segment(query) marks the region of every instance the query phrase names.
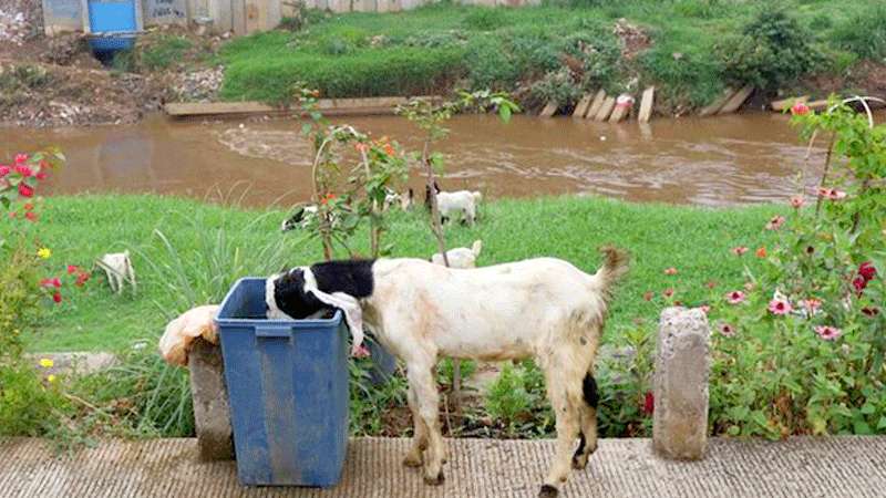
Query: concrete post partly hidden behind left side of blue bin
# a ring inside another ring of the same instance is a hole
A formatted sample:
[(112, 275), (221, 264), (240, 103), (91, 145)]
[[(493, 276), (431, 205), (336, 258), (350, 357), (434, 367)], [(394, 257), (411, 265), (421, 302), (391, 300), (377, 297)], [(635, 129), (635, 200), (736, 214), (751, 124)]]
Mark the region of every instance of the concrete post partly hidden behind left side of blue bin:
[(222, 349), (196, 339), (188, 353), (188, 367), (199, 457), (207, 461), (234, 459), (234, 432)]

